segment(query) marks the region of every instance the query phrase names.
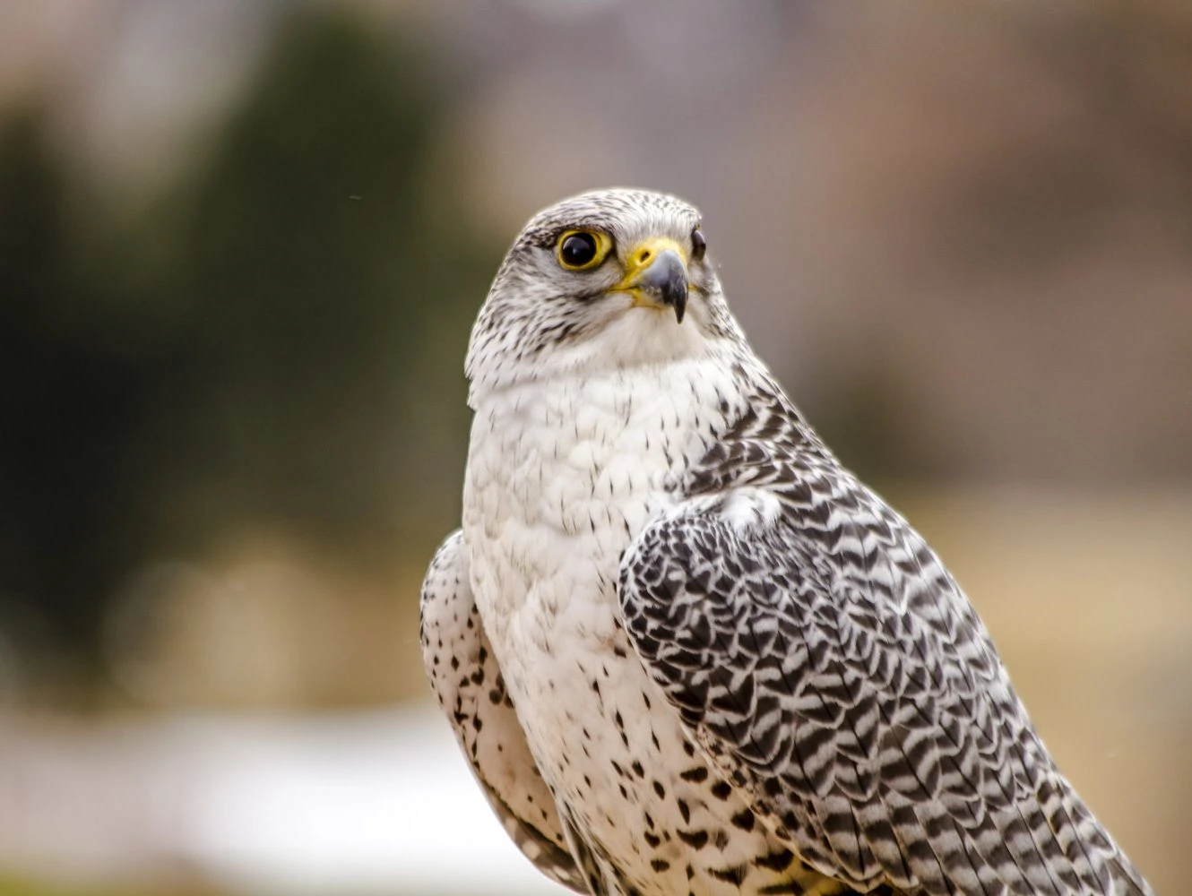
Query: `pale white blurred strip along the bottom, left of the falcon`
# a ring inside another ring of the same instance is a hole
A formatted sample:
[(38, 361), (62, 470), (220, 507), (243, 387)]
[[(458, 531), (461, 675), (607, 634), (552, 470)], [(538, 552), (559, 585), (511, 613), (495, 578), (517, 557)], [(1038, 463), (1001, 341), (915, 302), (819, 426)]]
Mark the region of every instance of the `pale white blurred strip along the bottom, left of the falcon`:
[(0, 735), (0, 870), (252, 894), (565, 892), (501, 829), (436, 710)]

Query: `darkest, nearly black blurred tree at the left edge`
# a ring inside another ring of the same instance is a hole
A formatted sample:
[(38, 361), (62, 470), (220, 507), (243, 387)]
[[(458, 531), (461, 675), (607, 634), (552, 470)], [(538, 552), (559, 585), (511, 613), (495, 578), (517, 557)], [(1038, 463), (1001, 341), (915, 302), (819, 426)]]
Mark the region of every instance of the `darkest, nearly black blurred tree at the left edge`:
[(0, 627), (93, 658), (98, 590), (131, 560), (124, 449), (151, 377), (95, 338), (80, 207), (42, 112), (13, 113), (0, 127)]

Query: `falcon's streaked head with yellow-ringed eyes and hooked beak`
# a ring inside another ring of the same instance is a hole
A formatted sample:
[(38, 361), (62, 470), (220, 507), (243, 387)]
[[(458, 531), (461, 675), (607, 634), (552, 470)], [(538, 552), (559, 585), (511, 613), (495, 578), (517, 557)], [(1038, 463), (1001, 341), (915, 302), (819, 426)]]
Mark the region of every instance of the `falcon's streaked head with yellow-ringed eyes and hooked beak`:
[(700, 213), (644, 189), (544, 209), (514, 241), (472, 329), (472, 394), (516, 382), (699, 357), (740, 331)]

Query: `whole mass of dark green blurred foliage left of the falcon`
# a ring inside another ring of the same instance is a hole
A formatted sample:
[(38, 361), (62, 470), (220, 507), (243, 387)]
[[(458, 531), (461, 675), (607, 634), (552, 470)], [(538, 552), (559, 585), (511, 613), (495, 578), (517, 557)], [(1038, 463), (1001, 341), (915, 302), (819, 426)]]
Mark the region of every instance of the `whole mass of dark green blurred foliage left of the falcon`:
[(89, 674), (134, 570), (237, 528), (424, 560), (501, 249), (433, 166), (446, 74), (297, 12), (201, 162), (118, 228), (41, 110), (0, 125), (0, 633)]

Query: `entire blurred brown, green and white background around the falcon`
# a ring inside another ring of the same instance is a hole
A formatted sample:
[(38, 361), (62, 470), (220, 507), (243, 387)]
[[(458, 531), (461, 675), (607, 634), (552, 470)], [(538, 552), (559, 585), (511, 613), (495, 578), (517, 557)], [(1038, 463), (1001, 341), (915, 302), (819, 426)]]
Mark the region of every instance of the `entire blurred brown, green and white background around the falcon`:
[(1159, 891), (1192, 834), (1192, 7), (0, 0), (0, 894), (550, 894), (429, 705), (524, 219), (704, 212)]

